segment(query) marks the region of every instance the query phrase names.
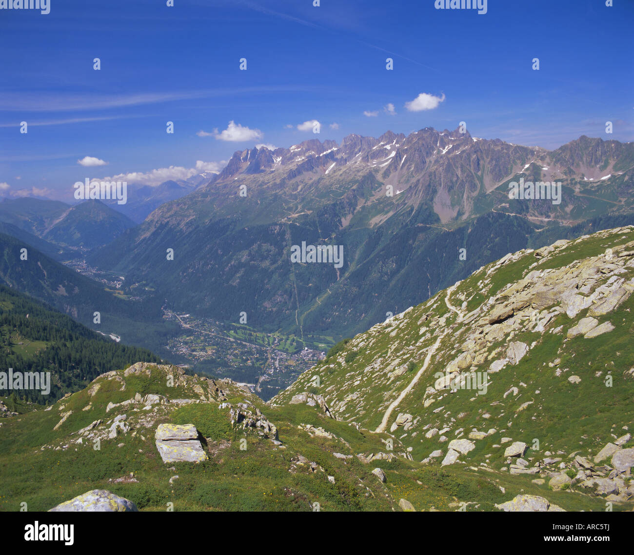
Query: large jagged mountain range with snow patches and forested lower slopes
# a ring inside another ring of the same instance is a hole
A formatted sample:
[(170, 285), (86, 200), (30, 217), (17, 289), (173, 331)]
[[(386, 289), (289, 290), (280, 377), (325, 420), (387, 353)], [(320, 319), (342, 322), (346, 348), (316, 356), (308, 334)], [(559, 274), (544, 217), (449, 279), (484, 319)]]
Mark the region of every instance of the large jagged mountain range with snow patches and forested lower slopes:
[[(509, 199), (520, 180), (560, 182), (560, 202)], [(630, 143), (582, 136), (548, 151), (458, 130), (353, 134), (236, 152), (216, 180), (90, 260), (176, 310), (337, 336), (507, 252), (633, 223), (633, 193)], [(342, 267), (292, 263), (302, 242), (344, 247)]]

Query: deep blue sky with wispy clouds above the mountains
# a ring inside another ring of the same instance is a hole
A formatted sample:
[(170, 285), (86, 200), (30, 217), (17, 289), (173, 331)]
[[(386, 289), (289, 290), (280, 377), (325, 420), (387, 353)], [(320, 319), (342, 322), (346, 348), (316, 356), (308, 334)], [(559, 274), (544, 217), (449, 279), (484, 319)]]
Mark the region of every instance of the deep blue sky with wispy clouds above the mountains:
[[(545, 148), (581, 134), (633, 140), (634, 1), (488, 0), (484, 15), (436, 10), (434, 0), (320, 4), (50, 0), (48, 15), (0, 10), (0, 197), (71, 201), (86, 178), (157, 185), (257, 144), (460, 121), (473, 136)], [(320, 134), (298, 129), (313, 120)], [(91, 159), (107, 165), (79, 164), (101, 163)]]

